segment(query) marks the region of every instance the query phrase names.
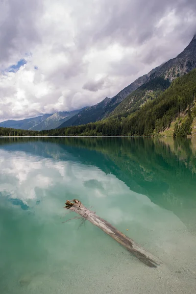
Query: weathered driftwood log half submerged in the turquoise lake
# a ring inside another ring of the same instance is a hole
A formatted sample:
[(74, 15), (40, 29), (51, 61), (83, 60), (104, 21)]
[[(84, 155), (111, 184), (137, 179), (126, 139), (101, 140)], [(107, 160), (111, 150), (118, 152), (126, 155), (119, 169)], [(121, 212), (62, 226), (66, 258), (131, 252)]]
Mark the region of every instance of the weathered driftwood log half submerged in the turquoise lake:
[[(73, 201), (73, 202), (71, 202)], [(95, 212), (87, 209), (79, 200), (67, 200), (65, 203), (65, 208), (74, 211), (79, 214), (83, 219), (92, 222), (97, 225), (98, 228), (103, 230), (106, 234), (116, 240), (118, 243), (123, 245), (128, 251), (133, 253), (137, 258), (139, 258), (143, 263), (145, 263), (148, 267), (156, 268), (161, 264), (160, 260), (152, 255), (145, 248), (134, 242), (129, 237), (125, 236), (119, 230), (117, 230), (114, 226), (112, 226), (109, 222), (99, 218)]]

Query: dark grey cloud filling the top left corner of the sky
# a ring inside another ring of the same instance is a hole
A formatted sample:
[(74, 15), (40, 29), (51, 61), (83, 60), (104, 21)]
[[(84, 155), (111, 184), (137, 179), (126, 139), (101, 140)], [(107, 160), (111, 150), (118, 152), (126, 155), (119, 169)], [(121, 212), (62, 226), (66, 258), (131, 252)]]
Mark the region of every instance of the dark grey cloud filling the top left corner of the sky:
[[(32, 43), (39, 40), (36, 19), (42, 13), (39, 0), (0, 1), (0, 68), (15, 63), (29, 53)], [(28, 51), (29, 50), (29, 51)]]

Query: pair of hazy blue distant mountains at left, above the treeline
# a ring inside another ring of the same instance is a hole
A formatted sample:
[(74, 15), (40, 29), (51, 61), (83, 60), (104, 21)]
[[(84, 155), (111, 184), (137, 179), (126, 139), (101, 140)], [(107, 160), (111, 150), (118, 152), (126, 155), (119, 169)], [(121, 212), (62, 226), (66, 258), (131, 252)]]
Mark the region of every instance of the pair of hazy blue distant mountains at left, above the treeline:
[(62, 123), (71, 119), (74, 115), (76, 115), (79, 110), (74, 111), (59, 111), (53, 114), (45, 114), (43, 116), (38, 116), (35, 118), (20, 120), (20, 121), (4, 121), (0, 123), (0, 127), (9, 127), (15, 129), (24, 129), (24, 130), (49, 130), (57, 128)]

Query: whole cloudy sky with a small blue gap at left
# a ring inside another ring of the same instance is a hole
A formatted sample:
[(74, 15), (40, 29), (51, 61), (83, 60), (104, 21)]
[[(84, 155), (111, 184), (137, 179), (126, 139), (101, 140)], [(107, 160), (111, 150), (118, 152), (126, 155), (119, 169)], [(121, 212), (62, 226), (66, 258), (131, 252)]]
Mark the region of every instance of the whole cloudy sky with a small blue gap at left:
[(196, 0), (0, 0), (0, 121), (113, 97), (196, 33)]

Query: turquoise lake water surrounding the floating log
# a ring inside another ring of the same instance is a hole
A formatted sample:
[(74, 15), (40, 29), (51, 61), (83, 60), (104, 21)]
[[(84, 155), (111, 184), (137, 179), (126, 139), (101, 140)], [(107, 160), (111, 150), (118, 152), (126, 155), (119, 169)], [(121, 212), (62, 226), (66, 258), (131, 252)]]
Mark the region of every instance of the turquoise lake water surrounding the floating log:
[[(73, 198), (163, 264), (65, 222)], [(195, 294), (196, 140), (0, 138), (0, 294), (27, 293)]]

